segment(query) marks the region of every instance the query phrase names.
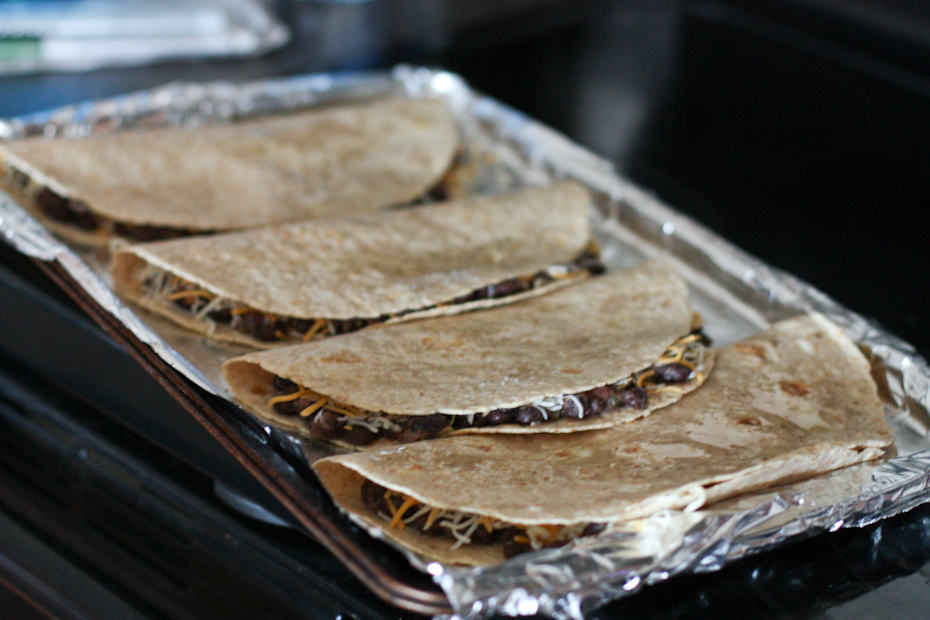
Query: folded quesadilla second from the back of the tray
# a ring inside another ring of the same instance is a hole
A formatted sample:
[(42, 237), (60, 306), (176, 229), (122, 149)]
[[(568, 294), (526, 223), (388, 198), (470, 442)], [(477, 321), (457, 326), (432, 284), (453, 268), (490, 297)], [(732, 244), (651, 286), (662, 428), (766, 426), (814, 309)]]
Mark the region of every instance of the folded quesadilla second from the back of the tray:
[(465, 312), (602, 271), (572, 182), (428, 207), (140, 244), (116, 290), (211, 336), (294, 344)]

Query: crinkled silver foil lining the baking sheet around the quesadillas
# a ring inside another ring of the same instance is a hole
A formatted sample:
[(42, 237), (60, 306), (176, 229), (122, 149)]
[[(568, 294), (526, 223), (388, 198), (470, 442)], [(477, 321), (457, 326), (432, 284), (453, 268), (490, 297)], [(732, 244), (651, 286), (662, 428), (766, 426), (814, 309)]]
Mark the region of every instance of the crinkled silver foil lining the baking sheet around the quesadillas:
[[(608, 268), (652, 256), (688, 282), (706, 332), (725, 346), (771, 322), (809, 311), (827, 315), (870, 357), (895, 433), (897, 456), (703, 510), (664, 511), (607, 533), (482, 568), (429, 562), (405, 552), (448, 596), (456, 617), (586, 611), (682, 572), (708, 571), (790, 538), (857, 527), (930, 501), (930, 368), (905, 342), (813, 287), (741, 252), (619, 177), (611, 165), (554, 131), (472, 91), (457, 76), (424, 68), (313, 75), (248, 84), (162, 88), (0, 121), (0, 139), (72, 137), (130, 127), (196, 127), (257, 114), (387, 94), (446, 99), (465, 143), (460, 189), (484, 193), (572, 177), (594, 197), (595, 230)], [(173, 368), (229, 398), (220, 364), (247, 349), (210, 343), (112, 293), (106, 255), (53, 238), (0, 192), (0, 231), (19, 251), (57, 261), (104, 309)], [(273, 432), (268, 429), (269, 432)], [(298, 442), (314, 460), (326, 446)], [(379, 532), (372, 530), (374, 536)]]

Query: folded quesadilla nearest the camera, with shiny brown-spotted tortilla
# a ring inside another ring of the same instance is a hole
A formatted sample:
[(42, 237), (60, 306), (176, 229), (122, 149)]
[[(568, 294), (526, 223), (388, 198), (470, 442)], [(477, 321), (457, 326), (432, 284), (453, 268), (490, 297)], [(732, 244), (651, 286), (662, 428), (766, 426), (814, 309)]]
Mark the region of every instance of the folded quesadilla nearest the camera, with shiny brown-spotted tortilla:
[(867, 361), (813, 315), (723, 349), (701, 389), (630, 424), (447, 437), (314, 468), (366, 525), (429, 558), (482, 565), (875, 459), (891, 441)]

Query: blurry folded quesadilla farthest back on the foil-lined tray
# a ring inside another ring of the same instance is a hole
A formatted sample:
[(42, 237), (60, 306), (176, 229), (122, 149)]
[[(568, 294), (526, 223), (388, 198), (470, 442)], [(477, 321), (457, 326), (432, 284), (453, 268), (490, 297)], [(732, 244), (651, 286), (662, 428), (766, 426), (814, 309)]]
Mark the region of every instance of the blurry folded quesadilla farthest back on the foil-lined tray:
[(449, 168), (438, 100), (387, 99), (197, 128), (0, 143), (0, 186), (81, 243), (153, 240), (406, 203)]

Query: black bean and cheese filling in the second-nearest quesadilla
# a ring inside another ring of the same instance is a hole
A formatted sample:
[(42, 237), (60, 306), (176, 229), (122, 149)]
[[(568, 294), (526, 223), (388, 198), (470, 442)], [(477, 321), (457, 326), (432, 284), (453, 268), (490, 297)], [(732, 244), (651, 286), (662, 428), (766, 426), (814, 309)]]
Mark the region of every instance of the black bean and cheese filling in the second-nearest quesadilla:
[(529, 405), (494, 409), (485, 413), (450, 415), (391, 415), (366, 411), (332, 402), (289, 379), (273, 375), (274, 396), (268, 406), (276, 413), (300, 417), (312, 437), (338, 439), (352, 445), (367, 445), (378, 438), (404, 443), (432, 439), (453, 430), (470, 427), (520, 424), (530, 426), (562, 418), (582, 420), (612, 409), (645, 409), (650, 392), (680, 390), (676, 384), (703, 380), (704, 348), (710, 340), (701, 328), (680, 338), (656, 364), (634, 375), (584, 392), (547, 397)]

